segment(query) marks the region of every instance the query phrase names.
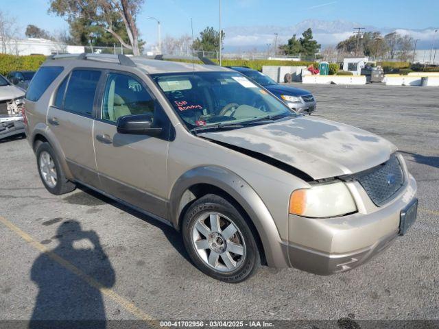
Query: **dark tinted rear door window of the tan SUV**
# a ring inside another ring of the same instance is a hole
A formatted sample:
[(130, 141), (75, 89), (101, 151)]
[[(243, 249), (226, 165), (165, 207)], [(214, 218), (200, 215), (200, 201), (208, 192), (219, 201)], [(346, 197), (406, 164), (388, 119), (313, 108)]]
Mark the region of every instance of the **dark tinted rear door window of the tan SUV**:
[(64, 97), (64, 110), (91, 116), (100, 75), (99, 71), (72, 71), (66, 96)]

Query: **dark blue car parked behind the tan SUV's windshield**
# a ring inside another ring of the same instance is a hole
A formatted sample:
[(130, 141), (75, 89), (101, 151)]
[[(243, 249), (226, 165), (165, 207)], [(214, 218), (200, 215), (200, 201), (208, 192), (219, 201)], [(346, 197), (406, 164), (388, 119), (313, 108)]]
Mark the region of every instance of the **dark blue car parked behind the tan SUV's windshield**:
[(287, 106), (298, 113), (312, 113), (316, 111), (316, 99), (311, 92), (305, 89), (278, 84), (267, 75), (245, 66), (228, 66), (250, 77), (253, 81), (269, 90), (273, 95), (282, 99)]

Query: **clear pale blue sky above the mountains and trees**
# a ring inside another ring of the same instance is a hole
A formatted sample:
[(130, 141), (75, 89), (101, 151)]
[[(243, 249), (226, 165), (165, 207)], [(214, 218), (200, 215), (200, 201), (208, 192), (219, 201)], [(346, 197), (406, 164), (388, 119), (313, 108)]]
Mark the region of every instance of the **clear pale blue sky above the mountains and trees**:
[[(191, 34), (206, 26), (218, 28), (219, 0), (146, 0), (137, 19), (141, 38), (157, 39), (154, 16), (162, 23), (162, 37)], [(67, 29), (64, 19), (48, 14), (49, 0), (0, 0), (0, 10), (16, 18), (21, 34), (34, 24), (49, 32)], [(222, 27), (276, 25), (287, 27), (306, 19), (344, 20), (375, 27), (426, 29), (439, 27), (439, 0), (222, 0)], [(227, 34), (226, 34), (227, 39)], [(227, 43), (227, 40), (224, 41)]]

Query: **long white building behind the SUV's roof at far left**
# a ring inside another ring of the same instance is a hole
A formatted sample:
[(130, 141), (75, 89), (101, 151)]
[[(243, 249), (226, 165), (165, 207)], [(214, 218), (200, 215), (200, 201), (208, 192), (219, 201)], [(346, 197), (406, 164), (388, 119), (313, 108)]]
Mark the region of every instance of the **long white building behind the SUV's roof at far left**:
[(24, 40), (0, 39), (0, 53), (11, 55), (45, 55), (54, 53), (84, 53), (84, 46), (70, 46), (62, 42), (47, 39), (27, 38)]

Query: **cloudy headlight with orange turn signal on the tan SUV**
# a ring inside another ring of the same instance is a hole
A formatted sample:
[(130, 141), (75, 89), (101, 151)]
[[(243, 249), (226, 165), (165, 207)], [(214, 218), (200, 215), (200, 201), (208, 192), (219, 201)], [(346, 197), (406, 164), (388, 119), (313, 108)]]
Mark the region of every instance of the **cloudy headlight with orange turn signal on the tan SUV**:
[(355, 211), (357, 206), (344, 182), (300, 188), (289, 197), (289, 213), (292, 215), (322, 218)]

